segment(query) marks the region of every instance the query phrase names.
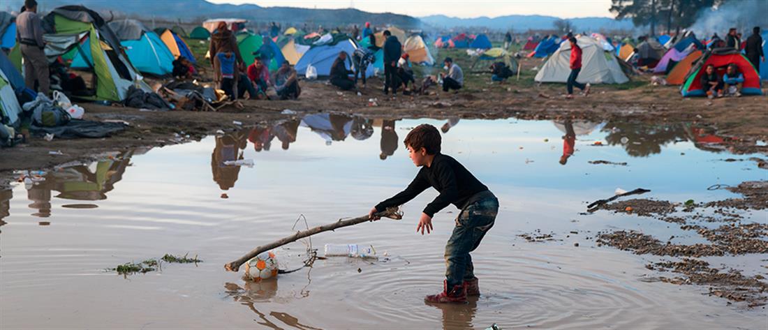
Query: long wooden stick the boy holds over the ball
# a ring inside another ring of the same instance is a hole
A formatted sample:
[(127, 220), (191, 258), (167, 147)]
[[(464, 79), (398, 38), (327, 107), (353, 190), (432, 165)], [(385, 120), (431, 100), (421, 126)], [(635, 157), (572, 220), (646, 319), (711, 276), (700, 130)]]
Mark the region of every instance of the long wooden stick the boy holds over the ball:
[[(394, 207), (391, 207), (386, 211), (376, 213), (376, 216), (387, 217), (390, 219), (402, 219), (402, 213), (400, 213), (397, 210), (397, 208), (394, 208)], [(240, 266), (243, 265), (243, 263), (247, 262), (248, 260), (252, 259), (255, 256), (258, 256), (262, 252), (269, 251), (270, 249), (274, 249), (276, 247), (284, 246), (288, 243), (296, 242), (299, 239), (303, 239), (304, 237), (307, 237), (307, 236), (313, 236), (317, 233), (323, 233), (328, 230), (336, 230), (346, 226), (353, 226), (358, 223), (365, 223), (366, 221), (369, 221), (368, 215), (358, 216), (352, 219), (339, 219), (335, 223), (329, 223), (323, 226), (316, 226), (310, 229), (300, 230), (291, 236), (287, 236), (283, 239), (276, 240), (273, 243), (269, 243), (263, 246), (257, 246), (256, 249), (252, 249), (250, 252), (246, 253), (245, 256), (241, 256), (239, 259), (224, 265), (224, 269), (227, 269), (228, 272), (237, 272), (237, 270), (240, 269)]]

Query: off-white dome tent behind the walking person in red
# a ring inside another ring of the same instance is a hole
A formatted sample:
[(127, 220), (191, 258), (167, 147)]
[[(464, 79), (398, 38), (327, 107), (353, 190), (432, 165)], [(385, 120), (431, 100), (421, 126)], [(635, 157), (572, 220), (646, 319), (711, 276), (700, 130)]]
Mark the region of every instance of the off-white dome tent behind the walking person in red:
[[(624, 84), (629, 81), (612, 51), (604, 51), (593, 38), (577, 38), (581, 47), (581, 72), (576, 81), (591, 84)], [(563, 42), (536, 74), (538, 82), (566, 82), (571, 74), (571, 43)]]

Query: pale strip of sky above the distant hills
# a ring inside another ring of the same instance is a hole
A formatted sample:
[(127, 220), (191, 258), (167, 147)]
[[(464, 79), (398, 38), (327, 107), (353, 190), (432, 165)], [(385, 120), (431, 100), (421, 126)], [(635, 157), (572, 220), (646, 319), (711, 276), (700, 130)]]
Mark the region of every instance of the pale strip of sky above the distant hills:
[(349, 8), (364, 12), (393, 12), (415, 17), (447, 15), (460, 18), (504, 15), (548, 15), (560, 18), (613, 17), (611, 0), (207, 0), (214, 3), (256, 4), (263, 7)]

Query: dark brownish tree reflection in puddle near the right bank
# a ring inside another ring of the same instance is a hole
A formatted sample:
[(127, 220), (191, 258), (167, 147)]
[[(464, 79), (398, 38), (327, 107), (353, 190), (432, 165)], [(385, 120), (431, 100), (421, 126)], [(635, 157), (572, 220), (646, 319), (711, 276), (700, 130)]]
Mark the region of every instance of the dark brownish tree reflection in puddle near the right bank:
[(631, 124), (609, 121), (604, 132), (612, 146), (621, 144), (631, 157), (648, 157), (660, 153), (661, 146), (677, 140), (687, 140), (683, 124)]

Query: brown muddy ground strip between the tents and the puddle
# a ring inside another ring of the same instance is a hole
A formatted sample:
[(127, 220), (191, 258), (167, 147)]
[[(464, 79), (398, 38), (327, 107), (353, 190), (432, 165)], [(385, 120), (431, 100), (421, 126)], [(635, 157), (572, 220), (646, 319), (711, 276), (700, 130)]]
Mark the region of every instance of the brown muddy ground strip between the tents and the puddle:
[[(740, 97), (707, 100), (683, 98), (677, 87), (648, 84), (650, 76), (634, 76), (621, 86), (597, 85), (588, 97), (564, 98), (564, 84), (533, 83), (534, 67), (539, 59), (521, 59), (521, 77), (506, 84), (490, 84), (489, 74), (465, 68), (465, 88), (458, 93), (443, 93), (431, 87), (429, 95), (386, 97), (379, 79), (369, 81), (362, 95), (339, 92), (325, 81), (302, 81), (303, 94), (298, 101), (243, 101), (245, 108), (224, 108), (219, 112), (167, 111), (146, 112), (120, 106), (81, 103), (85, 119), (124, 120), (130, 124), (124, 132), (104, 139), (46, 141), (30, 137), (26, 144), (0, 150), (2, 184), (12, 180), (12, 170), (37, 170), (73, 160), (87, 160), (105, 151), (138, 146), (177, 144), (186, 135), (200, 139), (217, 130), (283, 120), (319, 111), (336, 111), (380, 118), (480, 118), (518, 117), (551, 120), (563, 117), (592, 121), (620, 120), (651, 124), (690, 122), (717, 130), (726, 137), (727, 148), (734, 153), (760, 152), (756, 140), (768, 140), (768, 98)], [(466, 64), (468, 66), (468, 64)], [(436, 73), (436, 72), (432, 72)], [(768, 89), (764, 88), (768, 94)], [(377, 106), (369, 106), (376, 98)], [(281, 114), (290, 109), (296, 114)], [(181, 134), (184, 132), (184, 134)], [(181, 139), (175, 134), (180, 134)], [(49, 155), (61, 150), (63, 155)]]

